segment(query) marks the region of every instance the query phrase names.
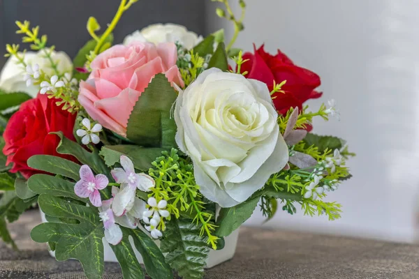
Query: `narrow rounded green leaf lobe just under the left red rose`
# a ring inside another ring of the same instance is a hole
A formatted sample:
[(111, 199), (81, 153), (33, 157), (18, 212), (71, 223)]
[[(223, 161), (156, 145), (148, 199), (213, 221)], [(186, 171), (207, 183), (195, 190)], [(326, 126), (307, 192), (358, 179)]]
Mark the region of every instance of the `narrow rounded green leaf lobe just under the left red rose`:
[(29, 167), (50, 174), (59, 174), (75, 181), (80, 180), (80, 165), (63, 158), (50, 155), (35, 155), (28, 160)]

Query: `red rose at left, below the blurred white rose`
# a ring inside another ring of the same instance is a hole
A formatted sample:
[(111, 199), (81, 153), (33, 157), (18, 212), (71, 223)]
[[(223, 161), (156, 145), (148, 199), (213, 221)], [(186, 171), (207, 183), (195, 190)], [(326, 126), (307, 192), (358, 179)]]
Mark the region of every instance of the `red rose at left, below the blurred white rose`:
[(55, 102), (57, 99), (38, 94), (36, 98), (24, 102), (19, 111), (10, 117), (3, 133), (6, 165), (13, 163), (10, 172), (20, 172), (25, 178), (39, 173), (27, 165), (31, 156), (39, 154), (74, 160), (72, 156), (57, 153), (59, 137), (49, 133), (62, 131), (70, 140), (75, 140), (73, 127), (76, 115), (61, 110)]

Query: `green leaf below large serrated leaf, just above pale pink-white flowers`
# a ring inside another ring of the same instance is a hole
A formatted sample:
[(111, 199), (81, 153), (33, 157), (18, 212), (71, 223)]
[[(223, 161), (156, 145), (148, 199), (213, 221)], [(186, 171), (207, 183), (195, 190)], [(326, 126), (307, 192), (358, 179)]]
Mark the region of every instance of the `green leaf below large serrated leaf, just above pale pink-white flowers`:
[(135, 169), (143, 172), (153, 167), (152, 162), (161, 156), (161, 152), (166, 149), (161, 148), (143, 148), (137, 145), (109, 145), (103, 146), (100, 154), (105, 158), (105, 163), (109, 167), (119, 163), (122, 155), (128, 156), (133, 161)]

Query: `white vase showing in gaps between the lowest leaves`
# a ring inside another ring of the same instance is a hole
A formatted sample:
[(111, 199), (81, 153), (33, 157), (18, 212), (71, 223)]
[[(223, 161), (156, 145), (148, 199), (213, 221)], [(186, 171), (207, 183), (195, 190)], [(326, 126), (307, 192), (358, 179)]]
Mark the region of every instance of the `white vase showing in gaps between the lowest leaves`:
[[(48, 221), (45, 219), (45, 214), (41, 211), (41, 218), (43, 223), (47, 223)], [(236, 246), (237, 246), (237, 239), (239, 236), (239, 229), (236, 229), (235, 232), (224, 238), (226, 241), (226, 246), (224, 246), (221, 250), (210, 250), (210, 255), (207, 258), (207, 266), (205, 266), (206, 269), (211, 269), (212, 267), (221, 264), (223, 262), (228, 261), (229, 259), (232, 259)], [(105, 238), (102, 239), (103, 241), (103, 247), (105, 248), (105, 262), (118, 262), (117, 257), (115, 256), (115, 253), (112, 251), (112, 248), (110, 248), (108, 242), (105, 240)], [(135, 252), (135, 255), (137, 256), (138, 262), (140, 264), (144, 264), (142, 261), (142, 257), (140, 255), (140, 252), (138, 252), (137, 249), (135, 249), (135, 246), (133, 245), (133, 241), (130, 238), (131, 246)], [(160, 247), (160, 241), (156, 241), (157, 246)], [(50, 251), (50, 255), (52, 257), (55, 257), (55, 253)]]

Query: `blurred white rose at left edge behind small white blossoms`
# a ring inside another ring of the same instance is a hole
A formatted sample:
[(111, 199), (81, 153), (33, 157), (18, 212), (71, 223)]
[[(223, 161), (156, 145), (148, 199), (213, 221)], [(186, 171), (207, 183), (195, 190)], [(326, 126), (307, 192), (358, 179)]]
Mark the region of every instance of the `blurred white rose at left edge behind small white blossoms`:
[[(20, 54), (22, 55), (22, 54)], [(52, 52), (52, 60), (57, 63), (57, 68), (60, 74), (71, 73), (73, 71), (73, 63), (70, 57), (64, 52)], [(34, 66), (39, 65), (39, 68), (43, 70), (47, 75), (54, 75), (54, 70), (51, 68), (50, 61), (45, 58), (43, 51), (40, 52), (27, 52), (24, 54), (24, 62), (28, 65)], [(32, 97), (35, 97), (39, 92), (39, 86), (27, 87), (23, 77), (26, 73), (25, 68), (17, 63), (17, 59), (11, 56), (0, 73), (0, 89), (9, 92), (24, 91), (29, 93)]]

